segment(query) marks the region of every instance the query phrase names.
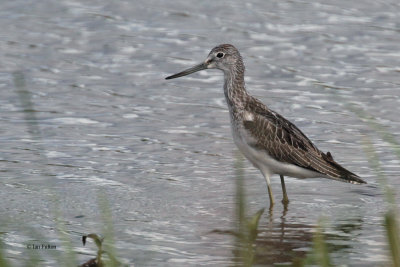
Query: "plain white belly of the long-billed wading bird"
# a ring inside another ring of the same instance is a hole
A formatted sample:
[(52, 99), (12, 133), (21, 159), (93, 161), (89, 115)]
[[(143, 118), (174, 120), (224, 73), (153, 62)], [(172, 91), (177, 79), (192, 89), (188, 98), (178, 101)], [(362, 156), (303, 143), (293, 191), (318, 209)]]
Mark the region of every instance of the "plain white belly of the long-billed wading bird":
[(294, 164), (277, 161), (266, 150), (256, 149), (248, 145), (249, 143), (255, 143), (255, 140), (241, 127), (232, 127), (232, 135), (239, 150), (263, 173), (267, 172), (269, 175), (281, 174), (296, 178), (325, 177), (321, 173), (307, 170)]

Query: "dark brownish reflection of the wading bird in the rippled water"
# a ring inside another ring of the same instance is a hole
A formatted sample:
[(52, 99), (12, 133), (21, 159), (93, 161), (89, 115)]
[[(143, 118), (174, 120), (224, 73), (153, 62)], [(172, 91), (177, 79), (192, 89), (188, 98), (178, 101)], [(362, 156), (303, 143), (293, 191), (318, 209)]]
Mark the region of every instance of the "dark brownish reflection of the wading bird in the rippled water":
[[(255, 265), (269, 266), (277, 263), (292, 265), (293, 261), (305, 258), (312, 250), (313, 233), (317, 222), (315, 224), (299, 223), (296, 222), (296, 218), (288, 214), (290, 214), (290, 209), (286, 206), (279, 212), (270, 209), (262, 216), (257, 239), (253, 244)], [(344, 257), (351, 251), (354, 239), (362, 230), (362, 224), (361, 218), (353, 218), (337, 220), (335, 224), (327, 226), (329, 233), (324, 233), (324, 239), (329, 253), (332, 255), (340, 251), (341, 257)], [(238, 236), (237, 232), (231, 230), (212, 232)], [(241, 261), (240, 249), (237, 246), (233, 249), (234, 262)]]

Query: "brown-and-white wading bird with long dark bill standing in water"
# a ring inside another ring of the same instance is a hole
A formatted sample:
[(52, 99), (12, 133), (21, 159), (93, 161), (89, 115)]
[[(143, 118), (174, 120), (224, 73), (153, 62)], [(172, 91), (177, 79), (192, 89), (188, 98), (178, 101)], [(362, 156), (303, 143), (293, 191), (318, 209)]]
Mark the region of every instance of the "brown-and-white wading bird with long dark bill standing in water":
[(273, 174), (280, 175), (284, 205), (289, 202), (284, 176), (324, 177), (352, 184), (366, 183), (334, 161), (330, 152), (325, 154), (319, 150), (293, 123), (247, 93), (243, 60), (233, 45), (214, 47), (204, 62), (165, 79), (205, 69), (224, 72), (224, 94), (233, 140), (267, 181), (271, 207), (274, 204), (270, 181)]

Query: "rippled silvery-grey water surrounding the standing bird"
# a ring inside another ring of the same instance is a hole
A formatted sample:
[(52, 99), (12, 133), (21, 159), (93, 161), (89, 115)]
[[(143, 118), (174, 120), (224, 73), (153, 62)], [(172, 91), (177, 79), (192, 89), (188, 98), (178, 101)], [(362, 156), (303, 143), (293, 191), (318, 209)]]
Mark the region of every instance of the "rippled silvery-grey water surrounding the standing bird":
[[(368, 185), (286, 179), (291, 200), (260, 221), (256, 264), (290, 263), (325, 218), (337, 265), (387, 263), (384, 195), (363, 148), (371, 140), (398, 193), (392, 146), (348, 105), (400, 142), (400, 4), (387, 1), (2, 1), (0, 223), (15, 263), (55, 266), (112, 210), (119, 258), (135, 266), (235, 262), (237, 148), (222, 73), (165, 81), (232, 43), (249, 92), (302, 129)], [(268, 207), (244, 161), (249, 214)], [(397, 198), (398, 199), (398, 198)], [(57, 250), (29, 251), (50, 243)]]

